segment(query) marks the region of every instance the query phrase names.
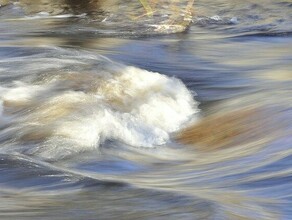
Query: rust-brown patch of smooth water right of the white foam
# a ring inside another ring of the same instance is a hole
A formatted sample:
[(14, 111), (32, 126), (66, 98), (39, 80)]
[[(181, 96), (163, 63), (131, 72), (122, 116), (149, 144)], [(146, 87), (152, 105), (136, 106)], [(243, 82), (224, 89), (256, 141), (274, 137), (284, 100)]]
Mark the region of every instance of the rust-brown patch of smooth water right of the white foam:
[(226, 148), (241, 140), (264, 137), (265, 121), (260, 109), (244, 109), (203, 118), (199, 123), (180, 131), (175, 139), (198, 150)]

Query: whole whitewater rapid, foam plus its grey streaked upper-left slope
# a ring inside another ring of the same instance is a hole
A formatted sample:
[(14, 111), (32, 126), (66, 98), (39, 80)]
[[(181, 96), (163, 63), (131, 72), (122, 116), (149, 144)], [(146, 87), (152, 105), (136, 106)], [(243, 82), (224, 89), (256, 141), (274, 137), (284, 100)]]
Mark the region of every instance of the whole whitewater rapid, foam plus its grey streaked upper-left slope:
[(2, 151), (59, 158), (105, 141), (155, 147), (198, 112), (179, 79), (89, 52), (40, 49), (1, 66)]

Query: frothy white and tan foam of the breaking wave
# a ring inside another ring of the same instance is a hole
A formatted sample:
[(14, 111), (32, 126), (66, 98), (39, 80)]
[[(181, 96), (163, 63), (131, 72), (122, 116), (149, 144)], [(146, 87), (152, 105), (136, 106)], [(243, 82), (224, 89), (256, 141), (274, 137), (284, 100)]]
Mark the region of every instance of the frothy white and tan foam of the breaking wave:
[(25, 102), (21, 114), (11, 111), (12, 133), (19, 141), (37, 141), (35, 151), (45, 157), (56, 157), (53, 152), (60, 155), (62, 149), (72, 153), (98, 148), (105, 140), (153, 147), (167, 143), (169, 134), (198, 112), (180, 80), (105, 62), (108, 66), (92, 72), (60, 72), (2, 88), (0, 97), (4, 105), (12, 103), (10, 110), (23, 108)]

